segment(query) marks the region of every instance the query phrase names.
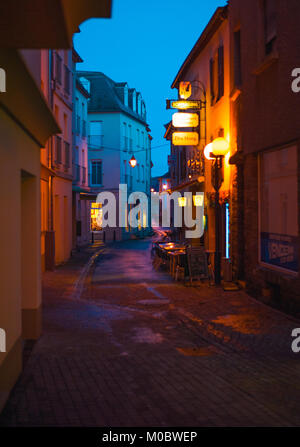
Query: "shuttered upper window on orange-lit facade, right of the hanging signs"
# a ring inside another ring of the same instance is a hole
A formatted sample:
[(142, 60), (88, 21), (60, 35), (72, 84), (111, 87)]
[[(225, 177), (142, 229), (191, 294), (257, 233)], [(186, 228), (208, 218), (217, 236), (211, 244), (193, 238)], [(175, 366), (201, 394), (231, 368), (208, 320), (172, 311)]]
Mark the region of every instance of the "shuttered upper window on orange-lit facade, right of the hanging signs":
[(221, 45), (210, 59), (210, 96), (214, 105), (224, 95), (224, 47)]

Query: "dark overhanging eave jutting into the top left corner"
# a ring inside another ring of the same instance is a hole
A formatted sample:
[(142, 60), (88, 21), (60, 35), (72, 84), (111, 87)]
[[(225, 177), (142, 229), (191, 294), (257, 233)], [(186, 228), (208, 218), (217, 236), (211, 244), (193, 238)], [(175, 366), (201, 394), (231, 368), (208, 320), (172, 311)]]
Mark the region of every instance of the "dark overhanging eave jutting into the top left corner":
[(111, 17), (111, 6), (112, 0), (2, 0), (0, 47), (72, 48), (79, 25)]

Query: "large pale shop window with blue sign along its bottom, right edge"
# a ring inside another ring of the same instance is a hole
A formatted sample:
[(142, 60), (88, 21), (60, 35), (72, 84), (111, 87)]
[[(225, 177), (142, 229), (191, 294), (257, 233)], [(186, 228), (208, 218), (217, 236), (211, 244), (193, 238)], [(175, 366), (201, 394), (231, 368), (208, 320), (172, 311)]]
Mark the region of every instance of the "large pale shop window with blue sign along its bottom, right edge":
[(299, 271), (297, 147), (260, 158), (260, 260)]

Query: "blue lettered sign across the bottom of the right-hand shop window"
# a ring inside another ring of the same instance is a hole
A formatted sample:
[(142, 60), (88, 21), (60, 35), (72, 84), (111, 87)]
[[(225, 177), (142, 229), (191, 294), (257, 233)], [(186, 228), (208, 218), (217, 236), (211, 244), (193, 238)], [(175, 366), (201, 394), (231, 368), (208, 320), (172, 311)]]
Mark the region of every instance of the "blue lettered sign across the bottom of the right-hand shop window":
[(283, 234), (260, 234), (261, 261), (292, 272), (299, 271), (299, 238)]

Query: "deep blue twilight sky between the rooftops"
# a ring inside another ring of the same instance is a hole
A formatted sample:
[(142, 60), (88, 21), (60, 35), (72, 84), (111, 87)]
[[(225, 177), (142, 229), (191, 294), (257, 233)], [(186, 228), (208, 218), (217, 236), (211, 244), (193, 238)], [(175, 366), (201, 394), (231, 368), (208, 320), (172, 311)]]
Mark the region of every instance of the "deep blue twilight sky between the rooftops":
[(88, 20), (75, 35), (75, 48), (84, 59), (78, 69), (102, 71), (141, 92), (153, 136), (152, 176), (168, 170), (163, 125), (171, 119), (166, 99), (176, 98), (170, 85), (215, 9), (226, 3), (113, 0), (111, 19)]

